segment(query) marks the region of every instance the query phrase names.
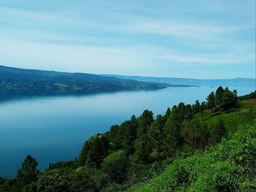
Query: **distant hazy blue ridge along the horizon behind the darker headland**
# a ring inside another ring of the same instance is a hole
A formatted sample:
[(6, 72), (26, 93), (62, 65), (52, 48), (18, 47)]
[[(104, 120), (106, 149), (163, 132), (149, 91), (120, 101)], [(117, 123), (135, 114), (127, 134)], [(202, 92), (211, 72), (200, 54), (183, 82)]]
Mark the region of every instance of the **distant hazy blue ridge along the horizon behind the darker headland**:
[(105, 77), (118, 77), (128, 80), (139, 80), (143, 82), (162, 82), (177, 85), (199, 85), (199, 86), (255, 86), (253, 78), (234, 78), (234, 79), (189, 79), (189, 78), (174, 78), (174, 77), (142, 77), (142, 76), (124, 76), (116, 74), (103, 74)]

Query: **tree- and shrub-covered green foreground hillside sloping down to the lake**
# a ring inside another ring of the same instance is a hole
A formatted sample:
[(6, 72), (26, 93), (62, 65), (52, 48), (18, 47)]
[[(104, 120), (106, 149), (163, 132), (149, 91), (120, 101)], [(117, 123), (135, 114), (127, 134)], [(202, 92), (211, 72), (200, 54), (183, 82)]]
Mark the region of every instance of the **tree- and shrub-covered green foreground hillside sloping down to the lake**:
[(0, 191), (256, 191), (253, 94), (219, 87), (156, 118), (145, 110), (91, 137), (74, 161), (39, 172), (28, 155)]

